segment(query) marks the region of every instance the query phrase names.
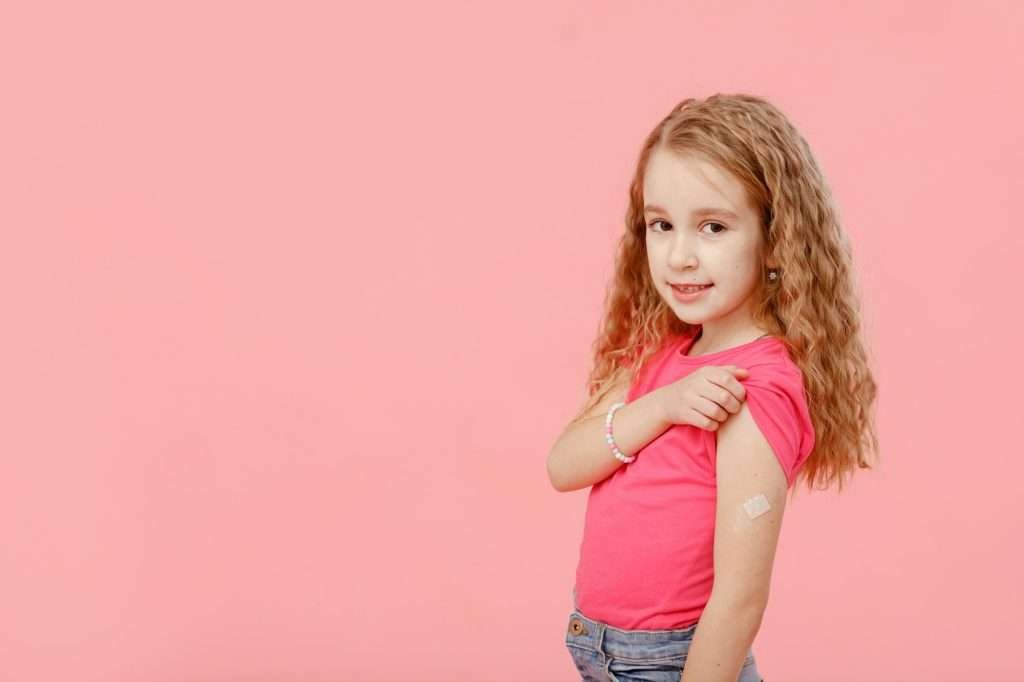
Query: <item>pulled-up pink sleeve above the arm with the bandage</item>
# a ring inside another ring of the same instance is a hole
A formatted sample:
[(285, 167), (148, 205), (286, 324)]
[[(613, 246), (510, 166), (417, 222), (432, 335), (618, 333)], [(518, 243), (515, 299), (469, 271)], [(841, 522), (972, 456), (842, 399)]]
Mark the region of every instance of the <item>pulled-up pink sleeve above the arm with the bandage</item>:
[(792, 486), (814, 447), (814, 426), (800, 369), (770, 363), (748, 370), (750, 376), (741, 380), (746, 406)]

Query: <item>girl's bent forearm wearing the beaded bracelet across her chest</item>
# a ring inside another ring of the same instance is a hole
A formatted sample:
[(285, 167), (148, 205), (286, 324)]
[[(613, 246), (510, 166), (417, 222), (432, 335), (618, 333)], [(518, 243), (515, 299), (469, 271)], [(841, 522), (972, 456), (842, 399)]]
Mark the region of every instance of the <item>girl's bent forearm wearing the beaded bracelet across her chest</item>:
[[(612, 433), (623, 454), (635, 455), (672, 426), (660, 406), (660, 395), (653, 390), (615, 412)], [(573, 424), (555, 441), (548, 455), (548, 476), (556, 491), (567, 493), (593, 485), (623, 466), (605, 440), (606, 414)]]

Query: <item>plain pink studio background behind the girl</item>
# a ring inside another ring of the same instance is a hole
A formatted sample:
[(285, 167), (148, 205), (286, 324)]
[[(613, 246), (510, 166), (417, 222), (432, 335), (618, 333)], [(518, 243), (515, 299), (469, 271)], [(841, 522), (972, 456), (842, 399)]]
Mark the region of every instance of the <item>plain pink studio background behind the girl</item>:
[(1019, 3), (18, 4), (0, 680), (577, 679), (545, 459), (639, 144), (716, 91), (818, 155), (881, 385), (762, 673), (1024, 678)]

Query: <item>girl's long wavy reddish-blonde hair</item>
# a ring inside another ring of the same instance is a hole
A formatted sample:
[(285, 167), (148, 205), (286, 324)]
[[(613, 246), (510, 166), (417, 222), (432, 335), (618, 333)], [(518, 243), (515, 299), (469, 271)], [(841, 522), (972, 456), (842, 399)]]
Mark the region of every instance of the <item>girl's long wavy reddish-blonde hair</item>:
[(632, 381), (670, 336), (696, 331), (662, 299), (648, 268), (643, 179), (658, 146), (731, 171), (759, 208), (763, 253), (774, 256), (780, 276), (769, 279), (762, 268), (754, 322), (782, 340), (804, 375), (815, 444), (800, 477), (809, 489), (838, 483), (842, 492), (845, 475), (871, 468), (867, 456), (879, 451), (871, 414), (878, 388), (861, 339), (852, 252), (807, 141), (778, 109), (758, 96), (684, 99), (644, 141), (593, 343), (588, 399), (573, 422), (612, 385)]

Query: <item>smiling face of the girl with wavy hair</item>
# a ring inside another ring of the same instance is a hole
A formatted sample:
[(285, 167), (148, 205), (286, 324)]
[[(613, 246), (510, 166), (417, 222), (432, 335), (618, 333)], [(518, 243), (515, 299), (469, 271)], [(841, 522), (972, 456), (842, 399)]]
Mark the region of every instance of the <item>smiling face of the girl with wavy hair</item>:
[[(662, 298), (705, 336), (754, 326), (763, 237), (756, 207), (731, 173), (696, 156), (655, 147), (643, 182), (647, 261)], [(710, 284), (680, 297), (674, 284)], [(709, 334), (711, 332), (711, 334)]]

